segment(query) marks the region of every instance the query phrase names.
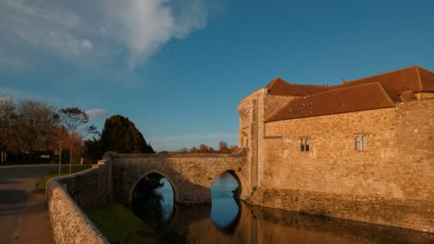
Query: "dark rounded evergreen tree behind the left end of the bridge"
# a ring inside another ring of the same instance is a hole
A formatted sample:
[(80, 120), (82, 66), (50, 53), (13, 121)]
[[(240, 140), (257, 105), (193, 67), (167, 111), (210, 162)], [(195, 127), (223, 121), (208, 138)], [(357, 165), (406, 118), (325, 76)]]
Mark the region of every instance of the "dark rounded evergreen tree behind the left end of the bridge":
[(134, 123), (121, 115), (106, 119), (101, 133), (101, 151), (155, 153)]

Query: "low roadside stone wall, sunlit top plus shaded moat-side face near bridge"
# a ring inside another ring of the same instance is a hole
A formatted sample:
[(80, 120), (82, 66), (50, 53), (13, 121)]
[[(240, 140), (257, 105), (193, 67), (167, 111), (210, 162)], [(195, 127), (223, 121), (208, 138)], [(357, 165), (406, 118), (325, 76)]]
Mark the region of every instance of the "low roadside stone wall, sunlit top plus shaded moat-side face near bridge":
[(94, 168), (51, 178), (46, 183), (46, 202), (56, 243), (109, 243), (81, 208), (111, 200), (111, 187), (109, 161), (99, 161)]

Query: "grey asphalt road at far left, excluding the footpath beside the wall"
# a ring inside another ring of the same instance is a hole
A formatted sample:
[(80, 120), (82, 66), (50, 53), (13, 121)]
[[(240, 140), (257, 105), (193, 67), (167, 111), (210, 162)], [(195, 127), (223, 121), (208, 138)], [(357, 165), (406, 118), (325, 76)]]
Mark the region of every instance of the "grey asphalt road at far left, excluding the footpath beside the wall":
[(39, 177), (55, 168), (56, 166), (0, 167), (0, 243), (13, 243), (18, 239), (31, 191)]

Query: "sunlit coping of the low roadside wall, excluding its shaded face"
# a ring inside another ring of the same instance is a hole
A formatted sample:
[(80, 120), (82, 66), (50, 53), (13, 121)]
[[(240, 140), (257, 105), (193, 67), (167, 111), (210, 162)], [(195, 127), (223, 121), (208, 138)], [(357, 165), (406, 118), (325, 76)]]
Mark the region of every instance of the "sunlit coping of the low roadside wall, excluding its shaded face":
[[(49, 208), (49, 217), (53, 228), (56, 243), (67, 241), (69, 243), (109, 243), (109, 240), (96, 228), (94, 223), (76, 204), (64, 187), (62, 180), (76, 178), (106, 164), (101, 162), (86, 171), (74, 173), (69, 176), (51, 178), (46, 183), (46, 203)], [(59, 213), (60, 212), (60, 213)], [(64, 212), (64, 214), (61, 214)]]

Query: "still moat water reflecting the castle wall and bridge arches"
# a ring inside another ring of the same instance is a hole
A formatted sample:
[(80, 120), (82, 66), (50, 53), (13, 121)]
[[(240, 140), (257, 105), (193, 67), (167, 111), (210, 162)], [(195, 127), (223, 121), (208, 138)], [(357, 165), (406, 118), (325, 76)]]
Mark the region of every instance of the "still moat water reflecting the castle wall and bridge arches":
[(170, 183), (161, 182), (158, 207), (133, 205), (160, 243), (434, 243), (427, 233), (248, 206), (233, 198), (238, 184), (228, 173), (214, 181), (211, 205), (173, 205)]

